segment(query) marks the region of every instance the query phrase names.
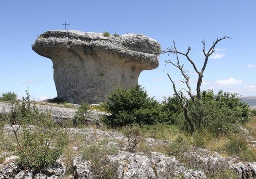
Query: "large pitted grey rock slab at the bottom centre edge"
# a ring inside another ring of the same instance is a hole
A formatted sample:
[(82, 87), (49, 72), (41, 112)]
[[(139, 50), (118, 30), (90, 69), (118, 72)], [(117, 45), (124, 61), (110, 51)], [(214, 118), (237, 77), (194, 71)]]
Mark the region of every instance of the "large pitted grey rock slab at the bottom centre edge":
[(120, 151), (110, 155), (111, 162), (117, 162), (118, 178), (122, 179), (205, 179), (204, 172), (185, 168), (175, 158), (162, 153), (152, 152), (148, 157), (144, 153)]

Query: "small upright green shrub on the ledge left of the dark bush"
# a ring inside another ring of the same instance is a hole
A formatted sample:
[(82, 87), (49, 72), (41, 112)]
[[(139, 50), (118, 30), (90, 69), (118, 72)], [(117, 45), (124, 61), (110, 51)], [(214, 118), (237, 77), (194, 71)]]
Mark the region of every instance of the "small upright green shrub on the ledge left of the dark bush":
[(75, 116), (73, 118), (73, 124), (75, 126), (84, 125), (86, 124), (86, 116), (85, 113), (89, 110), (89, 103), (82, 102), (81, 106), (78, 107), (77, 111), (75, 112)]

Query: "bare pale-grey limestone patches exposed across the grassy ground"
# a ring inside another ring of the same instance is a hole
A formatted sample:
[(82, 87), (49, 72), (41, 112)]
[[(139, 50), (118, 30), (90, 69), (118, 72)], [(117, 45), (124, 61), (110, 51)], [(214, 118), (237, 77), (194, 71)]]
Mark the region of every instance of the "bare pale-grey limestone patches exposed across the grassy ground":
[[(50, 107), (46, 105), (38, 106), (42, 110), (50, 110), (52, 118), (60, 120), (63, 118), (73, 118), (75, 108)], [(0, 103), (0, 113), (8, 112), (10, 105)], [(101, 113), (91, 111), (88, 115), (88, 121), (99, 118)], [(10, 125), (3, 127), (5, 133), (12, 133)], [(149, 151), (147, 153), (127, 151), (128, 138), (122, 133), (102, 131), (95, 128), (64, 128), (69, 137), (84, 136), (88, 143), (102, 143), (104, 147), (115, 147), (118, 152), (107, 156), (109, 164), (115, 164), (118, 179), (206, 179), (207, 176), (202, 171), (188, 169), (180, 163), (175, 157), (165, 156), (163, 153)], [(172, 141), (162, 141), (154, 138), (145, 138), (146, 146), (164, 146)], [(72, 168), (73, 174), (67, 176), (67, 166), (63, 163), (61, 157), (51, 168), (44, 168), (39, 173), (31, 171), (22, 171), (16, 167), (14, 160), (16, 156), (9, 153), (0, 153), (0, 179), (95, 179), (93, 164), (84, 159), (79, 151), (82, 146), (73, 147)], [(242, 163), (235, 158), (223, 157), (219, 153), (211, 153), (202, 148), (193, 148), (190, 152), (184, 153), (184, 156), (195, 160), (195, 164), (205, 165), (208, 168), (230, 168), (237, 174), (237, 178), (249, 179), (256, 178), (256, 162)], [(99, 169), (100, 170), (100, 169)], [(65, 177), (64, 177), (65, 176)]]

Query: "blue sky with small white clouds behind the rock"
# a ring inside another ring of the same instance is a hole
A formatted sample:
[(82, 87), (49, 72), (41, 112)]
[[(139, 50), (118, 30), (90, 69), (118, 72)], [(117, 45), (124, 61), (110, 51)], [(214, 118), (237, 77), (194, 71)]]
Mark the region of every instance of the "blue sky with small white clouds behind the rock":
[[(256, 96), (256, 1), (255, 0), (2, 0), (0, 2), (0, 94), (16, 92), (25, 96), (29, 89), (35, 100), (57, 96), (52, 61), (32, 51), (37, 36), (48, 30), (103, 32), (119, 35), (140, 33), (151, 37), (162, 50), (176, 42), (179, 51), (190, 46), (190, 57), (199, 69), (206, 48), (219, 37), (213, 58), (204, 72), (202, 89), (222, 89), (242, 96)], [(173, 95), (167, 72), (184, 86), (182, 77), (161, 55), (157, 69), (143, 71), (139, 84), (159, 101)], [(189, 71), (195, 93), (197, 76), (193, 67), (180, 59)]]

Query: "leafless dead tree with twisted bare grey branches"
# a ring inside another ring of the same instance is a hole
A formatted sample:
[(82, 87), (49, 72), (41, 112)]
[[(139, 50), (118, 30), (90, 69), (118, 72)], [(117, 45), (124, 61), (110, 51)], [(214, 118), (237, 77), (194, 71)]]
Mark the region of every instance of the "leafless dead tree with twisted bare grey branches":
[[(204, 41), (202, 41), (203, 53), (204, 53), (205, 59), (204, 59), (204, 65), (203, 65), (201, 71), (198, 70), (198, 68), (196, 67), (195, 63), (188, 56), (188, 53), (191, 50), (190, 46), (188, 46), (187, 52), (183, 53), (183, 52), (180, 52), (180, 51), (177, 50), (175, 41), (173, 41), (173, 48), (167, 48), (166, 51), (162, 52), (162, 53), (168, 53), (168, 56), (170, 54), (174, 54), (176, 56), (176, 63), (172, 62), (171, 60), (166, 60), (165, 62), (166, 63), (171, 63), (173, 66), (177, 67), (180, 70), (182, 76), (184, 77), (184, 79), (180, 80), (180, 82), (186, 84), (187, 89), (185, 89), (185, 91), (188, 92), (188, 95), (191, 98), (192, 102), (194, 102), (195, 97), (193, 96), (192, 89), (191, 89), (191, 87), (189, 85), (188, 71), (183, 69), (184, 64), (180, 63), (179, 56), (180, 55), (181, 56), (185, 56), (187, 58), (187, 60), (192, 64), (193, 69), (195, 70), (195, 72), (198, 74), (197, 87), (196, 87), (196, 92), (197, 92), (196, 93), (196, 97), (197, 97), (197, 99), (201, 100), (202, 99), (202, 96), (201, 96), (201, 84), (202, 84), (202, 81), (203, 81), (204, 70), (206, 68), (209, 56), (211, 56), (214, 53), (215, 46), (219, 43), (219, 41), (222, 41), (224, 39), (231, 39), (231, 38), (228, 37), (228, 36), (223, 36), (221, 38), (217, 38), (217, 40), (213, 42), (213, 45), (209, 48), (208, 51), (205, 50), (205, 39), (204, 39)], [(181, 105), (181, 107), (183, 109), (184, 118), (185, 118), (185, 120), (189, 124), (190, 132), (193, 133), (193, 130), (194, 130), (193, 121), (188, 117), (188, 107), (189, 107), (188, 98), (184, 97), (182, 92), (178, 92), (177, 91), (175, 83), (173, 82), (172, 78), (170, 77), (170, 75), (168, 73), (167, 73), (167, 76), (169, 77), (169, 79), (172, 82), (172, 87), (173, 87), (174, 93), (178, 96), (178, 98), (180, 100), (180, 105)]]

